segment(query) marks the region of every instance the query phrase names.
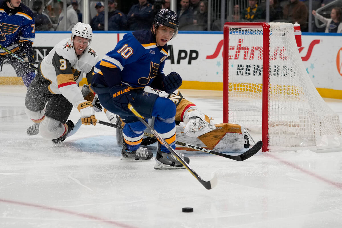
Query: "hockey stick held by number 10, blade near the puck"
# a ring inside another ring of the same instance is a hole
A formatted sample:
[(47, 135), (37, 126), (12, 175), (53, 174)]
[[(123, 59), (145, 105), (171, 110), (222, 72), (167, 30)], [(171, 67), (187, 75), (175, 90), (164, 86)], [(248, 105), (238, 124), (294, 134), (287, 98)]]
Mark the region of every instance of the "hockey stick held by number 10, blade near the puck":
[(186, 169), (194, 176), (197, 178), (197, 180), (206, 188), (206, 189), (212, 189), (213, 187), (216, 186), (217, 184), (217, 176), (216, 174), (214, 175), (214, 177), (209, 180), (209, 181), (205, 181), (203, 180), (200, 176), (198, 176), (198, 174), (192, 169), (192, 167), (189, 166), (188, 163), (186, 163), (184, 161), (184, 159), (179, 156), (177, 154), (176, 151), (174, 151), (174, 149), (165, 141), (165, 139), (163, 139), (158, 132), (156, 132), (154, 130), (154, 128), (152, 128), (151, 125), (149, 125), (146, 121), (145, 118), (142, 117), (139, 112), (137, 112), (133, 106), (131, 105), (131, 103), (128, 103), (128, 108), (131, 110), (131, 112), (133, 112), (133, 114), (146, 126), (146, 128), (148, 128), (158, 139), (158, 141), (165, 146), (185, 167)]

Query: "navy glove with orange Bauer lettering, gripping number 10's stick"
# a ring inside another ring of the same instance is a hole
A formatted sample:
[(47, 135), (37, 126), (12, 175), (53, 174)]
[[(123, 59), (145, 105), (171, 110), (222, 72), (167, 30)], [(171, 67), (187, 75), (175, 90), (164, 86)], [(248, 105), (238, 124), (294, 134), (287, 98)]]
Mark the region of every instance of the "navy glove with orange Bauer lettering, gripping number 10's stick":
[(116, 108), (129, 112), (128, 103), (134, 102), (130, 89), (127, 86), (116, 85), (109, 89), (113, 104)]

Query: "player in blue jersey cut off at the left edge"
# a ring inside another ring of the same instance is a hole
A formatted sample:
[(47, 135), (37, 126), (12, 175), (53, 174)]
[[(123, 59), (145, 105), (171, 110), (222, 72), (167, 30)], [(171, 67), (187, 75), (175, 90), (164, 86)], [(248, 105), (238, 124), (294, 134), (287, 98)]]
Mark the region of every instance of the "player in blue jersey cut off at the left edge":
[[(35, 19), (32, 11), (21, 0), (0, 0), (0, 45), (14, 52), (28, 63), (34, 63), (32, 44), (35, 39)], [(7, 59), (17, 77), (28, 87), (36, 76), (29, 64), (23, 63), (0, 49), (0, 65)]]

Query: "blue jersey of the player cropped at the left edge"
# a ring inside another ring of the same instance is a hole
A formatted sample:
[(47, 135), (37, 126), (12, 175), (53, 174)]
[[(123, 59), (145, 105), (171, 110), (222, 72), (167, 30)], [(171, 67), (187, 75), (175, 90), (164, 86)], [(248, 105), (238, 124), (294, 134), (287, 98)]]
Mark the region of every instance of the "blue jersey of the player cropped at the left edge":
[[(28, 52), (35, 39), (35, 19), (32, 11), (23, 3), (11, 9), (6, 1), (0, 1), (0, 45), (14, 52)], [(0, 49), (0, 55), (7, 52)]]

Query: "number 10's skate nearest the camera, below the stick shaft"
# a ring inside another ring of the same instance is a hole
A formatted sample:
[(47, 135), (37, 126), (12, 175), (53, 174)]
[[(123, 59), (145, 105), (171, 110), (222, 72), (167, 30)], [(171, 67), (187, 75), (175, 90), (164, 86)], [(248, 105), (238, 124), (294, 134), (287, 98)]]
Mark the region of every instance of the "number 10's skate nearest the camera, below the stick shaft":
[[(190, 159), (188, 157), (185, 157), (183, 153), (178, 153), (178, 155), (189, 164)], [(156, 162), (157, 164), (154, 166), (156, 170), (185, 169), (185, 166), (176, 158), (176, 156), (161, 150), (157, 151)]]

